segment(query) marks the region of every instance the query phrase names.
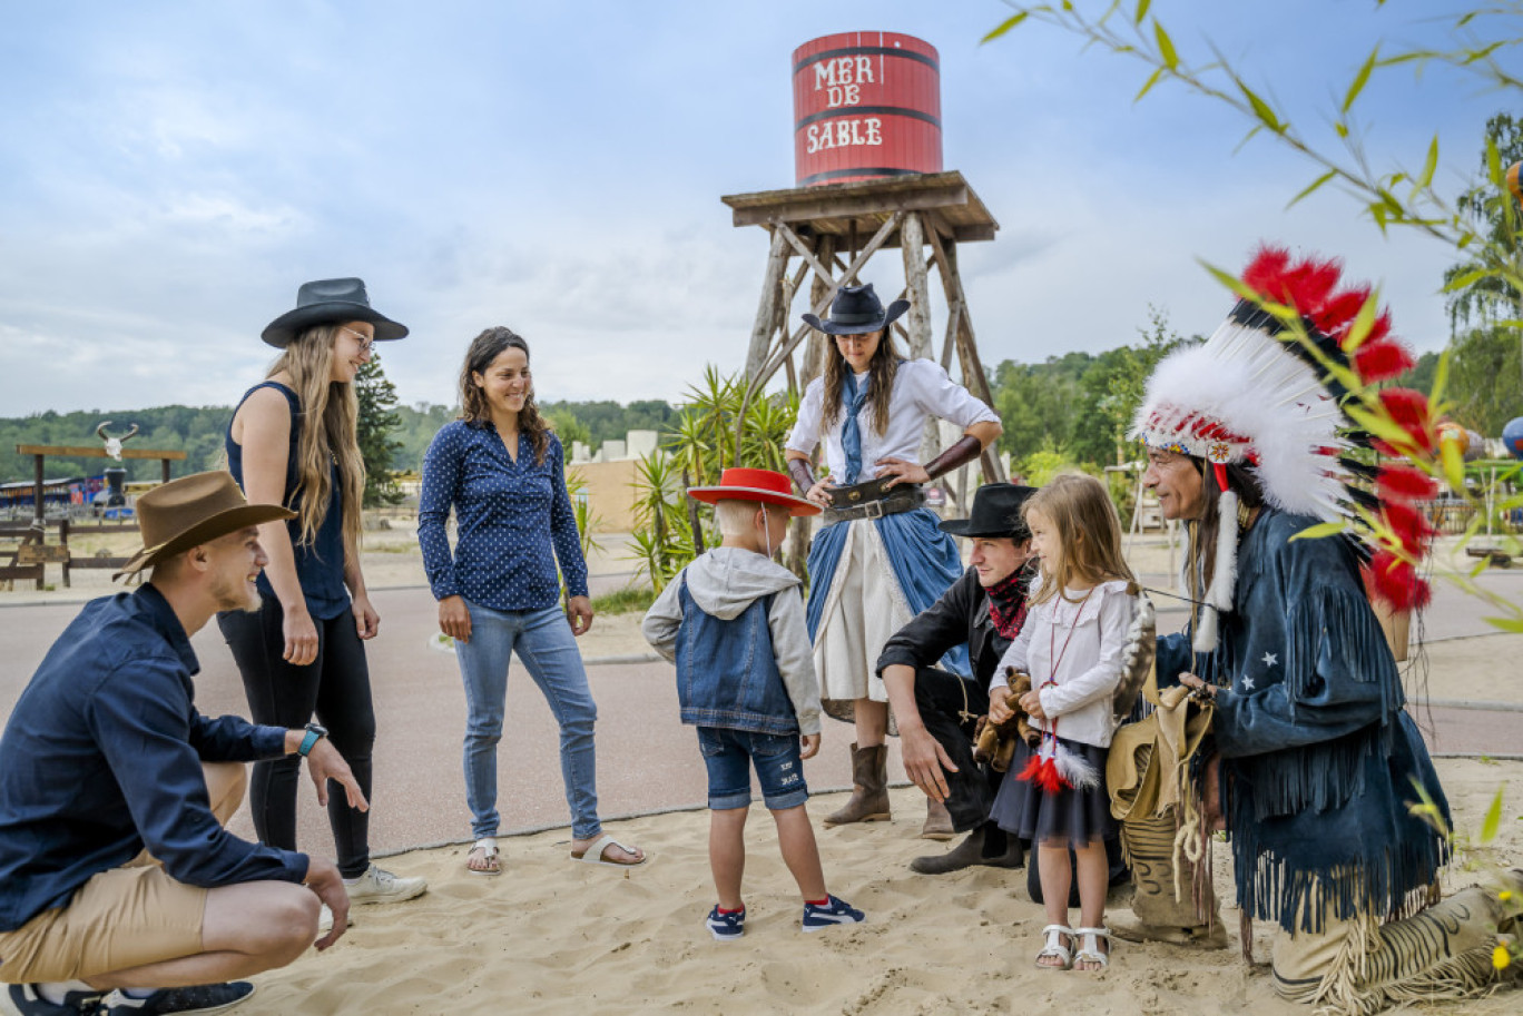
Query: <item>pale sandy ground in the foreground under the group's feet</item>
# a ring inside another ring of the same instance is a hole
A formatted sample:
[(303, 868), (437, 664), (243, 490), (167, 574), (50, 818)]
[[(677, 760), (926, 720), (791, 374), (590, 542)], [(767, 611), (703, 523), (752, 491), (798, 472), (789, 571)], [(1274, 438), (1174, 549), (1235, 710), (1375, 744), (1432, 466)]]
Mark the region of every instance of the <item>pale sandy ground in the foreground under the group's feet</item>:
[[(1439, 766), (1462, 827), (1476, 829), (1497, 786), (1518, 763)], [(918, 792), (894, 792), (894, 810), (918, 815)], [(1292, 1013), (1264, 967), (1238, 955), (1235, 909), (1224, 908), (1234, 944), (1205, 952), (1118, 943), (1109, 972), (1037, 970), (1045, 923), (1023, 871), (972, 868), (949, 876), (906, 870), (917, 853), (908, 820), (825, 830), (818, 816), (839, 795), (810, 803), (830, 890), (868, 923), (804, 935), (800, 905), (777, 853), (772, 823), (748, 830), (749, 920), (739, 943), (711, 941), (713, 905), (704, 812), (647, 816), (611, 827), (652, 851), (647, 867), (617, 871), (567, 861), (564, 832), (504, 841), (506, 873), (466, 874), (465, 848), (391, 859), (423, 874), (426, 896), (361, 908), (330, 952), (256, 978), (256, 1013)], [(1511, 800), (1508, 816), (1518, 812)], [(760, 807), (755, 809), (760, 812)], [(1215, 851), (1218, 893), (1231, 899), (1228, 851)], [(1523, 864), (1523, 823), (1505, 823), (1491, 847), (1465, 855), (1454, 887), (1496, 865)], [(1453, 888), (1453, 887), (1451, 887)], [(1125, 890), (1110, 909), (1125, 906)], [(1255, 955), (1269, 957), (1260, 926)], [(1518, 995), (1435, 1007), (1441, 1013), (1515, 1013)]]

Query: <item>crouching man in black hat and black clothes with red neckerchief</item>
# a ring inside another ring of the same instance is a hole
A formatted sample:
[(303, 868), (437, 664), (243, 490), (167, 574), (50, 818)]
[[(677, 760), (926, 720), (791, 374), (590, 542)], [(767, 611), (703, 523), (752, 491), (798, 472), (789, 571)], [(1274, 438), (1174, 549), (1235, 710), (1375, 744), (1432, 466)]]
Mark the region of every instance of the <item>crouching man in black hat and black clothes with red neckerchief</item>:
[[(877, 672), (899, 720), (905, 772), (932, 801), (943, 803), (953, 832), (969, 836), (946, 855), (915, 858), (921, 874), (975, 864), (1019, 868), (1020, 841), (988, 821), (1002, 772), (973, 762), (973, 727), (988, 711), (988, 682), (999, 658), (1020, 634), (1027, 593), (1036, 576), (1031, 532), (1020, 506), (1036, 494), (1013, 483), (988, 483), (973, 495), (966, 519), (941, 530), (973, 542), (972, 564), (940, 600), (905, 625), (877, 658)], [(972, 678), (937, 667), (967, 644)]]

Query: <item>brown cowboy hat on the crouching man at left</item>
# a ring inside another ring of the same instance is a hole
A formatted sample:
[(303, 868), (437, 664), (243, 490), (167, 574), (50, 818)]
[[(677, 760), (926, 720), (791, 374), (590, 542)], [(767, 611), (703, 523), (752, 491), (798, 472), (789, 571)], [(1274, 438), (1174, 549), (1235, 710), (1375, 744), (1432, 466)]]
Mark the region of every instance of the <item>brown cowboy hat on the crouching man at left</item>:
[(196, 472), (171, 480), (137, 498), (143, 548), (111, 579), (136, 574), (183, 550), (236, 533), (247, 526), (295, 518), (279, 504), (250, 504), (230, 472)]

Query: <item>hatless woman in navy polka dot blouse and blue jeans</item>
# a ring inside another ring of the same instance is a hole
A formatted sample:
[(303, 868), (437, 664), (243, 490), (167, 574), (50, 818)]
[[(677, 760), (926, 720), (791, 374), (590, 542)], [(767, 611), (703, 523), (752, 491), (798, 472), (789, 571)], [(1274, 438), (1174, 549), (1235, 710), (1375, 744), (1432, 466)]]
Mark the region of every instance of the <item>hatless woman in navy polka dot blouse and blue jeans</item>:
[[(592, 603), (565, 455), (535, 405), (528, 343), (506, 327), (477, 335), (460, 370), (460, 419), (434, 436), (423, 457), (417, 539), (439, 600), (439, 628), (455, 640), (466, 685), (466, 803), (475, 836), (466, 867), (475, 874), (503, 870), (496, 742), (515, 650), (560, 725), (571, 856), (641, 864), (646, 855), (605, 835), (597, 816), (597, 707), (574, 640), (592, 625)], [(454, 553), (445, 535), (451, 509)], [(565, 611), (557, 561), (570, 594)]]

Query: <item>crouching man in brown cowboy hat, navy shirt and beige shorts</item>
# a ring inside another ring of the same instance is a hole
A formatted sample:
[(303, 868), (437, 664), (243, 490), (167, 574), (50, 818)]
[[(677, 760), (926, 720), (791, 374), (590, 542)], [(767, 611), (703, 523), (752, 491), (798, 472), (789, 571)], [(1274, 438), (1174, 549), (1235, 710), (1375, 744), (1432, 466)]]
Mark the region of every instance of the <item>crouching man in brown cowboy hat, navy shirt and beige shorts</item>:
[[(239, 763), (306, 756), (318, 798), (337, 781), (367, 807), (321, 728), (207, 719), (190, 635), (218, 611), (259, 608), (260, 522), (225, 472), (137, 501), (152, 568), (134, 593), (88, 603), (53, 643), (0, 737), (0, 981), (21, 1016), (193, 1013), (242, 1001), (228, 982), (295, 960), (318, 905), (347, 928), (338, 868), (225, 829)], [(108, 995), (110, 993), (110, 995)]]

